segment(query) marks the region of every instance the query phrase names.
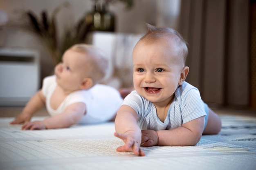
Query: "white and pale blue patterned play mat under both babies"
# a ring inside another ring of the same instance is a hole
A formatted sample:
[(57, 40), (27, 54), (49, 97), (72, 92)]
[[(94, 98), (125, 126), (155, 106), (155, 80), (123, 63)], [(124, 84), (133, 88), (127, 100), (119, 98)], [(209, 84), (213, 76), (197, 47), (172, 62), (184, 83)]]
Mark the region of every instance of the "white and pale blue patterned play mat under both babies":
[[(35, 119), (43, 119), (36, 117)], [(1, 170), (255, 170), (256, 117), (221, 115), (218, 135), (196, 146), (143, 148), (145, 157), (116, 152), (114, 123), (56, 130), (20, 130), (0, 119)], [(35, 120), (34, 119), (34, 120)]]

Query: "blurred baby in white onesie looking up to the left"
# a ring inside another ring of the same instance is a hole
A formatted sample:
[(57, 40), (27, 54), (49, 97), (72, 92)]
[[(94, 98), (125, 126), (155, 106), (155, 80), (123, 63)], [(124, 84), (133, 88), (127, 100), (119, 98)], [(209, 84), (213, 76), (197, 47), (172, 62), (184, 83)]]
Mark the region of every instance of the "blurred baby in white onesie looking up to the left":
[[(24, 123), (23, 130), (67, 128), (115, 118), (123, 99), (110, 86), (98, 84), (106, 75), (108, 61), (94, 46), (76, 44), (67, 49), (55, 75), (45, 77), (43, 87), (10, 124)], [(51, 117), (32, 121), (36, 111), (46, 106)]]

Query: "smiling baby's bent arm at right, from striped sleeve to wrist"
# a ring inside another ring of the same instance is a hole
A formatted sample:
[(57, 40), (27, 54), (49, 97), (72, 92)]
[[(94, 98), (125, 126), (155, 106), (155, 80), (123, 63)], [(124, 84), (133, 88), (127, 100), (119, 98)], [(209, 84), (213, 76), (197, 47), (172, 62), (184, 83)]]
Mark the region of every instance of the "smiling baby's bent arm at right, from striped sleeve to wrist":
[[(193, 146), (196, 145), (204, 129), (204, 117), (199, 117), (172, 130), (159, 130), (158, 146)], [(143, 142), (143, 141), (142, 141)]]

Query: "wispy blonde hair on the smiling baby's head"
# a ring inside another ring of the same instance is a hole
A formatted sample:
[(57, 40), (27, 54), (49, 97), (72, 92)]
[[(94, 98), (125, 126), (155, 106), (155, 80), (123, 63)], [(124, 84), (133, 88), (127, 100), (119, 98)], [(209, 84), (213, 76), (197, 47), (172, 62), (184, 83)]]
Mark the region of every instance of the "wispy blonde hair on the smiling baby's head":
[(184, 66), (186, 62), (186, 56), (188, 55), (187, 42), (184, 40), (182, 35), (175, 29), (169, 27), (156, 27), (147, 24), (147, 33), (140, 38), (139, 41), (144, 41), (145, 43), (154, 43), (156, 40), (161, 40), (162, 38), (167, 38), (172, 40), (172, 45), (174, 45), (177, 55), (181, 57), (181, 64)]

